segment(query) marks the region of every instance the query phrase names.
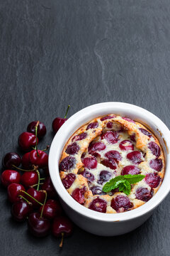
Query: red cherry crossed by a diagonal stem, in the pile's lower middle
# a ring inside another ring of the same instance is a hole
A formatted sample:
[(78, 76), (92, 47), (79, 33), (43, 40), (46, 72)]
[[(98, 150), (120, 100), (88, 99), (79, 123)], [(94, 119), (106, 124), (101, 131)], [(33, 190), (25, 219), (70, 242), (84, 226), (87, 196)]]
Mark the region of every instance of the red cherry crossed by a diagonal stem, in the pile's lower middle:
[[(29, 188), (27, 193), (30, 196), (33, 196), (33, 198), (35, 198), (37, 201), (39, 201), (40, 203), (44, 203), (45, 201), (45, 193), (42, 191), (37, 191), (35, 188)], [(40, 208), (40, 204), (35, 202), (33, 200), (33, 198), (30, 198), (30, 196), (26, 196), (26, 198), (28, 199), (28, 201), (30, 201), (30, 203), (33, 203), (33, 207), (34, 208)]]

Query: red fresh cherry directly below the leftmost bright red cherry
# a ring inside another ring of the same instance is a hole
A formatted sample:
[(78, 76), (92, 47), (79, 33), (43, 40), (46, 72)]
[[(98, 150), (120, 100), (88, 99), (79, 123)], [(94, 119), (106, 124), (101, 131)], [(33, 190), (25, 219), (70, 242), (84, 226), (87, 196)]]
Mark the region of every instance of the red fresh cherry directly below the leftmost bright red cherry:
[(21, 199), (19, 195), (23, 196), (23, 192), (21, 192), (21, 190), (26, 191), (23, 185), (18, 183), (11, 183), (8, 186), (8, 200), (11, 203), (15, 203), (16, 201), (19, 201)]

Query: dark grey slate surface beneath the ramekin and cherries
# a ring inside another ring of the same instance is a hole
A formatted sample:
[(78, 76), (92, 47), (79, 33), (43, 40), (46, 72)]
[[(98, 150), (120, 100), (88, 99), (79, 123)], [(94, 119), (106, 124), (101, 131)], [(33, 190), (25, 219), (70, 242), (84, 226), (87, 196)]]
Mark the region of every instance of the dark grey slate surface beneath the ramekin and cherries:
[[(40, 119), (41, 145), (52, 120), (97, 102), (144, 107), (170, 127), (169, 0), (0, 0), (0, 158), (17, 151), (18, 135)], [(75, 228), (59, 240), (33, 238), (11, 220), (0, 188), (0, 255), (170, 254), (170, 196), (127, 235), (103, 238)]]

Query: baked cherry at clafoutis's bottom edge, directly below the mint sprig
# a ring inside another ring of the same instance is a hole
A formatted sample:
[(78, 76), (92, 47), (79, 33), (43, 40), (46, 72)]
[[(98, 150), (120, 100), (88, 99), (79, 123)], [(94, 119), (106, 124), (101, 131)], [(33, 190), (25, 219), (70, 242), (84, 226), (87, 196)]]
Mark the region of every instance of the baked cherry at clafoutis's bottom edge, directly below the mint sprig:
[(111, 207), (116, 210), (117, 212), (122, 212), (132, 208), (132, 203), (128, 196), (116, 196), (111, 201)]

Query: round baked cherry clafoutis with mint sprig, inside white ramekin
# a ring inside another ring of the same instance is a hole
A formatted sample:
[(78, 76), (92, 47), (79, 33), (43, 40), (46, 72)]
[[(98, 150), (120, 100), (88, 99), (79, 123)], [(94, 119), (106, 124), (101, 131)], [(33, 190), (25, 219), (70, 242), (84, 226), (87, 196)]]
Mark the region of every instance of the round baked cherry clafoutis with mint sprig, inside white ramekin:
[(149, 201), (164, 178), (164, 153), (140, 122), (115, 114), (80, 127), (65, 144), (60, 177), (81, 205), (122, 213)]

